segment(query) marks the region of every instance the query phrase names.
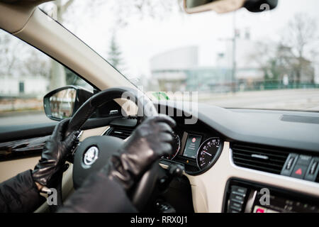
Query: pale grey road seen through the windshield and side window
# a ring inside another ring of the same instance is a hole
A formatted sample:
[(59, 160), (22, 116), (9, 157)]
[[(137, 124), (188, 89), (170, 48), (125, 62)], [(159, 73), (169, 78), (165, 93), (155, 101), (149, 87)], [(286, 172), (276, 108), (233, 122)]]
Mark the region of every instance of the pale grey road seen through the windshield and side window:
[[(199, 94), (198, 101), (223, 107), (319, 111), (319, 89)], [(0, 115), (0, 126), (52, 122), (44, 113)]]

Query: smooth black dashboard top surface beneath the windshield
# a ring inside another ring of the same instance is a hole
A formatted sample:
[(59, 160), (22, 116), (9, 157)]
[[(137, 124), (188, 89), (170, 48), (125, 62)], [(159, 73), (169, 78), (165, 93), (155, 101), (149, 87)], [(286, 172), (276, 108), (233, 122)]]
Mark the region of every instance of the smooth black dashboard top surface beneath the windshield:
[(193, 115), (229, 140), (319, 153), (319, 113), (223, 109), (206, 104), (189, 110), (183, 107), (191, 106), (186, 102), (173, 101), (158, 102), (155, 106)]

